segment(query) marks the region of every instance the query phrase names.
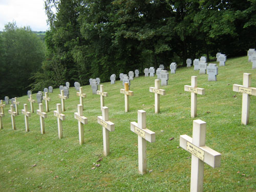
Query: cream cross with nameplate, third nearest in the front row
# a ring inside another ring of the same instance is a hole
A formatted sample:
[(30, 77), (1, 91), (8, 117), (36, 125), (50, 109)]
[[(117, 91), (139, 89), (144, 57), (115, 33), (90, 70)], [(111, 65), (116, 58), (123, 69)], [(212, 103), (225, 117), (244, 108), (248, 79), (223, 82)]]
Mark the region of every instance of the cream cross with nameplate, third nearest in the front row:
[(103, 154), (108, 156), (110, 154), (110, 136), (109, 132), (115, 131), (115, 124), (109, 121), (109, 108), (102, 107), (102, 116), (98, 116), (98, 123), (102, 125), (103, 134)]

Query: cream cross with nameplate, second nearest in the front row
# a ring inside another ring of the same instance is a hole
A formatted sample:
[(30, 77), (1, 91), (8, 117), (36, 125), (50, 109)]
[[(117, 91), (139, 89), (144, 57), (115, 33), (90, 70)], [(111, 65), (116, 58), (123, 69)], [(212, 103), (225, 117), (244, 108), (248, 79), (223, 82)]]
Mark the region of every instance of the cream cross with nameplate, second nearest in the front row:
[(138, 110), (138, 123), (131, 122), (131, 131), (138, 135), (139, 173), (146, 173), (146, 141), (155, 142), (156, 134), (146, 129), (146, 112)]

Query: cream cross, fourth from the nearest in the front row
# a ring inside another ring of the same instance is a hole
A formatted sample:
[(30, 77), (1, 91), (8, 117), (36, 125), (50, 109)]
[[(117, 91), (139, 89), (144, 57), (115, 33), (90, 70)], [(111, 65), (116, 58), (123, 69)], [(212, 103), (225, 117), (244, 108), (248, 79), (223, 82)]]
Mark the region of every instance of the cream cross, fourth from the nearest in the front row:
[(79, 133), (79, 144), (84, 143), (83, 124), (87, 124), (87, 118), (83, 116), (82, 104), (77, 105), (77, 113), (75, 113), (75, 119), (78, 120), (78, 133)]

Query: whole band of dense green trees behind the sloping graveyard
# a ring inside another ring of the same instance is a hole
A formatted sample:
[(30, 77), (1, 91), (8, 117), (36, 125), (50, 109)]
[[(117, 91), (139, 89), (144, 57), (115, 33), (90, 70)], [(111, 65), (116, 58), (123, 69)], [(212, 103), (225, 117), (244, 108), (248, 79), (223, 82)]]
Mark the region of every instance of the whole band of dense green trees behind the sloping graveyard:
[(256, 0), (46, 0), (45, 11), (45, 39), (15, 23), (0, 33), (1, 99), (256, 46)]

